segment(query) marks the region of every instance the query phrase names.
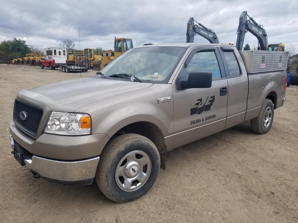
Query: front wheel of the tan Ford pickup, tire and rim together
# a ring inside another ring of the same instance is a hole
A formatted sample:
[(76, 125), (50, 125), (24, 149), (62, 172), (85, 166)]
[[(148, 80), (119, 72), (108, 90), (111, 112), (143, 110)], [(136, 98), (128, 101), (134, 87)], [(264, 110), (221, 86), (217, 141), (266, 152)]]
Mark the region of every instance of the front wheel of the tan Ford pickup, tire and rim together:
[[(141, 197), (152, 187), (159, 168), (159, 152), (152, 141), (138, 134), (123, 134), (112, 139), (103, 149), (95, 180), (110, 200), (127, 202)], [(144, 178), (143, 182), (136, 180), (139, 176)], [(127, 187), (125, 179), (130, 180)]]

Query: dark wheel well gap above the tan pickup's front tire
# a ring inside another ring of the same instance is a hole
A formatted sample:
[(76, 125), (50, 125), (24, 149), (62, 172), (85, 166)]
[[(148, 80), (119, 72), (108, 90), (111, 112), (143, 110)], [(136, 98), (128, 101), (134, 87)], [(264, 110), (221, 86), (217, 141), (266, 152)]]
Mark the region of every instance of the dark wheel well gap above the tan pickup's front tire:
[[(164, 151), (165, 147), (165, 140), (162, 134), (162, 131), (157, 127), (155, 124), (150, 122), (135, 122), (124, 126), (123, 128), (119, 129), (111, 139), (116, 138), (119, 135), (126, 134), (126, 133), (135, 133), (142, 135), (148, 139), (150, 139), (154, 145), (157, 147), (159, 153)], [(110, 139), (110, 140), (111, 140)]]

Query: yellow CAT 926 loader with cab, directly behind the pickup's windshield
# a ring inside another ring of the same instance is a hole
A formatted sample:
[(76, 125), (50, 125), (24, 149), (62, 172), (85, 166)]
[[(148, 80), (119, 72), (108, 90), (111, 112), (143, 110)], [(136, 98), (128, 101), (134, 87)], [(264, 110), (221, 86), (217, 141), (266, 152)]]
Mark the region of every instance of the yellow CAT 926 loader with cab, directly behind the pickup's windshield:
[(114, 51), (110, 50), (101, 53), (101, 59), (98, 59), (93, 63), (93, 70), (101, 70), (103, 67), (108, 65), (111, 61), (116, 59), (118, 56), (134, 48), (132, 39), (130, 38), (116, 38), (114, 40)]

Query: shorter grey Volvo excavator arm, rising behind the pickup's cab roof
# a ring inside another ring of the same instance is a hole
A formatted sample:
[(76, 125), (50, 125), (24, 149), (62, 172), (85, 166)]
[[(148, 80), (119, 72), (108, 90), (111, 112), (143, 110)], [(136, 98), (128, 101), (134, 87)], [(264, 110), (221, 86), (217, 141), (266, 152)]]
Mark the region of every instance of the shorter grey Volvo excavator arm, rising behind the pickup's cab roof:
[(198, 23), (192, 18), (190, 18), (187, 22), (187, 31), (186, 31), (186, 42), (193, 43), (193, 39), (195, 34), (199, 34), (200, 36), (207, 39), (210, 43), (219, 43), (217, 35), (213, 32), (212, 29), (208, 29), (207, 27), (203, 26), (201, 23), (195, 24), (194, 22)]

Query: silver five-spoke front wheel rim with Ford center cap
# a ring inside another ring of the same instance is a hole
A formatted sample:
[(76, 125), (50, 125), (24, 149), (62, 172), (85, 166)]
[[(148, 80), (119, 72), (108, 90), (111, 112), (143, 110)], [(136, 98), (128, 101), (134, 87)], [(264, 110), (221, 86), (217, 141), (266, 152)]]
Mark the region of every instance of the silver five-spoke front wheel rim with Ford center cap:
[(151, 159), (142, 150), (127, 153), (115, 170), (117, 186), (123, 191), (135, 191), (142, 187), (151, 173)]

